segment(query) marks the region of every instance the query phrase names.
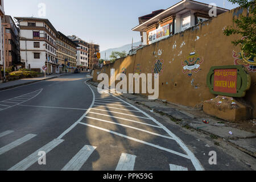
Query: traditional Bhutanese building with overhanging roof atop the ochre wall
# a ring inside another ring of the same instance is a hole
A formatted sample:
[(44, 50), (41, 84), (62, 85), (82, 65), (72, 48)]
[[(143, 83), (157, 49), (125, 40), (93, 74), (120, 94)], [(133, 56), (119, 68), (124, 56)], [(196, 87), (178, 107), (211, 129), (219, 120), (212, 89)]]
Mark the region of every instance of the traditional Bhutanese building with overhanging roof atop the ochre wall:
[(183, 0), (166, 10), (153, 11), (152, 14), (139, 17), (139, 25), (132, 30), (141, 33), (144, 45), (152, 44), (226, 11), (229, 10)]

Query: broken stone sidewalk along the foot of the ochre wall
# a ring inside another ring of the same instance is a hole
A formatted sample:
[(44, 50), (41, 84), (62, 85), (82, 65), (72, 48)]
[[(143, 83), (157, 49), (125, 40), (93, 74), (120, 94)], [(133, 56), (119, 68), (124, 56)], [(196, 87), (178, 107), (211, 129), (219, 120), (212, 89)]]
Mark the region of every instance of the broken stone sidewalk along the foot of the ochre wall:
[[(98, 83), (92, 81), (89, 83), (93, 86), (98, 85)], [(256, 134), (236, 129), (230, 126), (229, 122), (213, 118), (201, 109), (172, 104), (162, 100), (152, 101), (138, 94), (115, 95), (133, 101), (135, 104), (146, 106), (151, 112), (167, 115), (177, 125), (208, 134), (211, 138), (222, 138), (241, 151), (256, 157)], [(206, 119), (209, 123), (204, 123), (203, 119)]]

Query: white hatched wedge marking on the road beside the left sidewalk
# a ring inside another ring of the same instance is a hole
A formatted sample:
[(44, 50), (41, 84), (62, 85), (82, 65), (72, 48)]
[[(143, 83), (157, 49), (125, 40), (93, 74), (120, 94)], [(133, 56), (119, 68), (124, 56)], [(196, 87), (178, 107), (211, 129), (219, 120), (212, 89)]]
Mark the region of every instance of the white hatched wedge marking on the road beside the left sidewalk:
[(22, 96), (10, 98), (4, 101), (0, 101), (0, 111), (10, 109), (11, 107), (23, 104), (24, 102), (27, 102), (29, 100), (32, 100), (36, 96), (38, 96), (43, 89), (36, 90), (34, 92), (30, 92), (27, 94), (23, 94)]

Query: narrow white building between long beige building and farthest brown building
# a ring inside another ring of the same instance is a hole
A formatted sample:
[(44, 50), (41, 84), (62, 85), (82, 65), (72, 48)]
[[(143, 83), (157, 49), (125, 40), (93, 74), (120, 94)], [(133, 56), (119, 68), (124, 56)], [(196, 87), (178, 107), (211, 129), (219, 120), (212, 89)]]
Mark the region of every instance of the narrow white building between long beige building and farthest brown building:
[(76, 49), (76, 65), (80, 68), (88, 68), (88, 46), (89, 44), (84, 40), (73, 40), (78, 47)]

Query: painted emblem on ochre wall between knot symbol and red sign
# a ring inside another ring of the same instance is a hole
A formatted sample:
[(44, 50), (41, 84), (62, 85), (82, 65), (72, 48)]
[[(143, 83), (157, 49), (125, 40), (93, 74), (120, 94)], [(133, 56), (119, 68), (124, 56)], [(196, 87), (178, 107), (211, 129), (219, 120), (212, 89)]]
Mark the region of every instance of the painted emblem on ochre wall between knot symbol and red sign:
[(187, 74), (188, 77), (192, 77), (193, 73), (198, 73), (201, 68), (201, 64), (204, 62), (204, 59), (200, 59), (199, 55), (196, 52), (191, 52), (187, 57), (187, 60), (182, 61), (183, 73)]

